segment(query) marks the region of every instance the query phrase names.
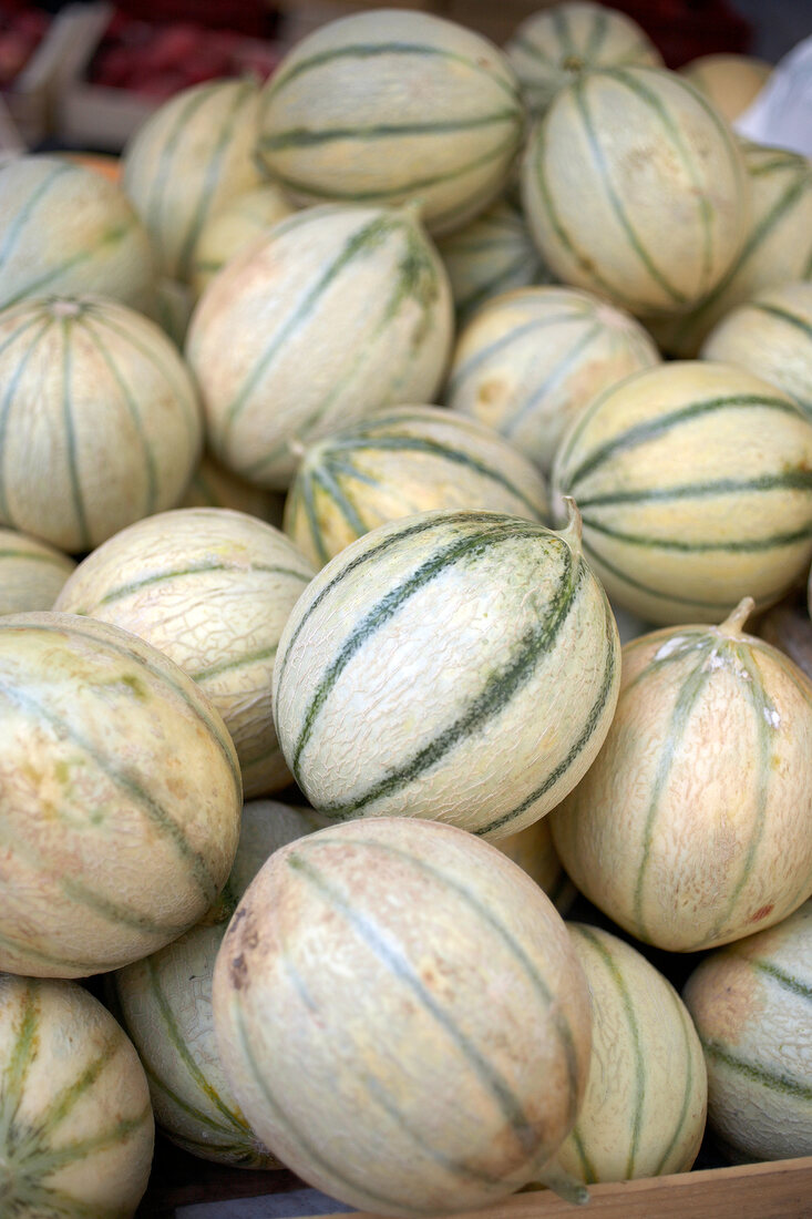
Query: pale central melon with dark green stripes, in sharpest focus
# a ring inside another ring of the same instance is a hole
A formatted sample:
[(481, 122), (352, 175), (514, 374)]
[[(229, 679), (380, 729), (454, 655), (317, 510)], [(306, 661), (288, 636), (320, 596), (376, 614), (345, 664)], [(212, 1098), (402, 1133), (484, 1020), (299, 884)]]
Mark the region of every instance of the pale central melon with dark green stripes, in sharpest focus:
[(330, 820), (424, 817), (488, 837), (578, 783), (608, 729), (617, 627), (561, 534), (493, 512), (424, 512), (341, 551), (279, 641), (282, 750)]

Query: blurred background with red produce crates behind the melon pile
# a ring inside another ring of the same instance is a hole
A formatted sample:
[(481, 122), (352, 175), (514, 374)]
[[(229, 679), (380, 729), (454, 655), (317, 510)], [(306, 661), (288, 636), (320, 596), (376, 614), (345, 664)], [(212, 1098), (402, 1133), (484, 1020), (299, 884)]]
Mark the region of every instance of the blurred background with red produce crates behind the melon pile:
[[(386, 0), (389, 2), (389, 0)], [(374, 0), (0, 0), (0, 149), (118, 152), (161, 101), (201, 80), (266, 79), (284, 51)], [(396, 5), (397, 6), (397, 5)], [(544, 0), (418, 0), (502, 44)], [(777, 62), (812, 33), (812, 0), (613, 0), (668, 67), (746, 52)]]

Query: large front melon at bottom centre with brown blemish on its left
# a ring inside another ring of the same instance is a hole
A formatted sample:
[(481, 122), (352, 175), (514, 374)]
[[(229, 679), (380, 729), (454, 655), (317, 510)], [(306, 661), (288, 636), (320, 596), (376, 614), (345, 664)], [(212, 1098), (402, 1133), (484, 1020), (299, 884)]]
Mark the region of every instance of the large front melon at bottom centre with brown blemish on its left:
[(277, 851), (232, 919), (213, 1004), (257, 1135), (365, 1212), (506, 1197), (583, 1096), (589, 992), (564, 924), (510, 859), (435, 822)]

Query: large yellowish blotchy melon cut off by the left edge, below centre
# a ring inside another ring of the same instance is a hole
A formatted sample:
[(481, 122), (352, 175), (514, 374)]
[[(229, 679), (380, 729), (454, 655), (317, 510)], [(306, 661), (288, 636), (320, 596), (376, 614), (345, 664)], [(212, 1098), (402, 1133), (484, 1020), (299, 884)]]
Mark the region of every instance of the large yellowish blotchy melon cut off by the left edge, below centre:
[(0, 618), (0, 969), (117, 969), (200, 919), (228, 876), (240, 772), (194, 681), (128, 631)]

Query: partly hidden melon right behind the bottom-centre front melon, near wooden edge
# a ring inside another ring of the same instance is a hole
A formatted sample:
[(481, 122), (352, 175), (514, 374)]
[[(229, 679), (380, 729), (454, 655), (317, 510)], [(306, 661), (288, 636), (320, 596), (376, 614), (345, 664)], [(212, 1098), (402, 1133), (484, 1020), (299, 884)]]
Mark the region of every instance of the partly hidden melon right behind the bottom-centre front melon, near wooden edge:
[(556, 1163), (586, 1184), (686, 1173), (705, 1134), (707, 1072), (685, 1004), (630, 944), (568, 929), (593, 1000), (593, 1057)]

